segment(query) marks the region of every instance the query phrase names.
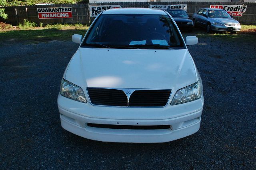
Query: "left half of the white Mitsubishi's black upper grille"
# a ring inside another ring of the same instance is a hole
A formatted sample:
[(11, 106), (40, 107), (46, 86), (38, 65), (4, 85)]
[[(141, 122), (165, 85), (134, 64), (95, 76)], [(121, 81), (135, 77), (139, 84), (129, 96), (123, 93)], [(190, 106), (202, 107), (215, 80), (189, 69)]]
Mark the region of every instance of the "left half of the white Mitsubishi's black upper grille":
[(122, 90), (108, 88), (87, 88), (91, 103), (104, 106), (128, 106)]

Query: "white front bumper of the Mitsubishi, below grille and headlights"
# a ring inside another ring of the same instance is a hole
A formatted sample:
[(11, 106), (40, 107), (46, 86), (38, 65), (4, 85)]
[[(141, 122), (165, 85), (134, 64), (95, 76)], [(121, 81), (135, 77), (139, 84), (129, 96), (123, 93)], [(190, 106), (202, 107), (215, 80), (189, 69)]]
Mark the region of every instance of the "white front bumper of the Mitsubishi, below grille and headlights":
[[(105, 142), (168, 142), (194, 134), (200, 128), (203, 96), (195, 101), (164, 108), (92, 106), (58, 96), (61, 125), (84, 138)], [(97, 128), (87, 124), (130, 126), (170, 125), (169, 129), (134, 130)]]

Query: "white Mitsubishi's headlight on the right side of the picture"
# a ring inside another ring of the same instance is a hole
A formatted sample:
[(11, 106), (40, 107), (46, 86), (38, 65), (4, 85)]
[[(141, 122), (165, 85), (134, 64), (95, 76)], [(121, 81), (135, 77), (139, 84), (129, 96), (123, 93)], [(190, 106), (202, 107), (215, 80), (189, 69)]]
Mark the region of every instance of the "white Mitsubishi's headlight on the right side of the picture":
[(201, 95), (202, 95), (202, 86), (201, 86), (201, 81), (199, 80), (194, 84), (191, 84), (187, 87), (184, 87), (178, 90), (175, 93), (171, 104), (175, 105), (175, 104), (190, 102), (192, 100), (196, 100), (200, 98)]

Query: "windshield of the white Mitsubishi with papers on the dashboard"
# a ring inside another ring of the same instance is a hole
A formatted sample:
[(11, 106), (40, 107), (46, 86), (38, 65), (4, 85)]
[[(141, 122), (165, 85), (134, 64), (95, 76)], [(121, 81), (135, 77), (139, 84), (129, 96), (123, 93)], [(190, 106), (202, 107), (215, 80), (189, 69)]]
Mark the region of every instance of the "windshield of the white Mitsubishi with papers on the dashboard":
[(184, 48), (168, 15), (102, 14), (89, 30), (82, 46), (100, 48)]

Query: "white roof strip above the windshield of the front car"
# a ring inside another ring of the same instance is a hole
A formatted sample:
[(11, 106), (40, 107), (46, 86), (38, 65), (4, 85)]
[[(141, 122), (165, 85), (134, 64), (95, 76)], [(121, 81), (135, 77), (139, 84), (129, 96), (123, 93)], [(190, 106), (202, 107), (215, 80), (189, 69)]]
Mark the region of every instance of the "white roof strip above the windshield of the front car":
[(150, 9), (150, 8), (115, 8), (106, 10), (102, 13), (104, 14), (157, 14), (166, 15), (163, 10)]

